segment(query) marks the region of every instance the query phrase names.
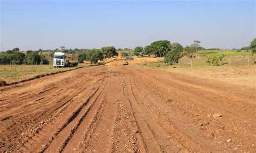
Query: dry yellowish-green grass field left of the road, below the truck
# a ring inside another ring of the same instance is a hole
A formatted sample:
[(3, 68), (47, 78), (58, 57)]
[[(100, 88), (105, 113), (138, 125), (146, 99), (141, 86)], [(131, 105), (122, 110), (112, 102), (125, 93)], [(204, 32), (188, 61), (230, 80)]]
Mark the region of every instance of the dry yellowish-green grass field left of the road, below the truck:
[(9, 83), (33, 78), (37, 75), (50, 74), (77, 67), (83, 67), (85, 64), (79, 64), (75, 67), (53, 67), (52, 65), (0, 65), (0, 80)]

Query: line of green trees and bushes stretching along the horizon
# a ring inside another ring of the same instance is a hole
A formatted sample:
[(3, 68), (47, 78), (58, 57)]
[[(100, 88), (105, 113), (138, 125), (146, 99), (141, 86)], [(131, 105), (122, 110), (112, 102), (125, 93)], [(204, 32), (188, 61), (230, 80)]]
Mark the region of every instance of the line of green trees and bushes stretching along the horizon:
[[(251, 41), (251, 45), (244, 47), (246, 49), (252, 50), (252, 53), (256, 53), (256, 38)], [(243, 49), (244, 49), (243, 48)], [(125, 48), (129, 50), (129, 48)], [(121, 50), (118, 48), (118, 50)], [(200, 46), (200, 41), (194, 40), (194, 43), (190, 46), (183, 47), (179, 43), (171, 43), (169, 40), (158, 40), (154, 41), (150, 45), (145, 47), (137, 46), (134, 48), (134, 55), (157, 55), (159, 57), (165, 57), (165, 62), (170, 62), (170, 64), (178, 63), (179, 59), (186, 55), (187, 57), (197, 57), (197, 51), (199, 50), (220, 50), (219, 48), (209, 48), (205, 49)], [(66, 49), (64, 46), (60, 47), (60, 50), (56, 48), (55, 50), (42, 50), (38, 51), (26, 51), (19, 52), (19, 48), (14, 48), (13, 50), (8, 50), (5, 52), (0, 52), (0, 64), (49, 64), (49, 60), (43, 55), (42, 52), (50, 52), (50, 57), (53, 58), (55, 52), (64, 53), (78, 53), (78, 62), (83, 62), (84, 60), (89, 60), (93, 63), (97, 63), (98, 60), (103, 60), (104, 58), (110, 58), (114, 55), (118, 55), (117, 50), (113, 46), (102, 47), (101, 49), (78, 49), (74, 50)]]

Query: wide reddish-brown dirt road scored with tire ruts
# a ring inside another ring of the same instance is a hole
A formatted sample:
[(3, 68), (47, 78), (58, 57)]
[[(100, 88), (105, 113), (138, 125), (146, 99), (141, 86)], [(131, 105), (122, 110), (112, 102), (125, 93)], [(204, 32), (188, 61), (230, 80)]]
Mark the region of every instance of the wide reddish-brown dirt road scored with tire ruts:
[(1, 89), (1, 152), (256, 151), (247, 86), (129, 65)]

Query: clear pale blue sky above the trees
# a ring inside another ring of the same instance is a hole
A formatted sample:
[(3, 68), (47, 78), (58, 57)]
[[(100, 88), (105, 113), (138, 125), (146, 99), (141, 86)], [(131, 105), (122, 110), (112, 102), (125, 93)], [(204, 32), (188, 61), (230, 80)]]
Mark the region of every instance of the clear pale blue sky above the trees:
[(241, 48), (255, 38), (255, 0), (0, 0), (0, 51), (134, 48), (156, 40)]

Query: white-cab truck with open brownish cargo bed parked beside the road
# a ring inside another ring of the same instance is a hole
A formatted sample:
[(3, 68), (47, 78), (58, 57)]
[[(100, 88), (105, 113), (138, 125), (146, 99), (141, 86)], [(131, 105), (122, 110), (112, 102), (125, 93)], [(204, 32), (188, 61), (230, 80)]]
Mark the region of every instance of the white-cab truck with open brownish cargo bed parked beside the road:
[(66, 67), (69, 65), (78, 65), (77, 53), (65, 54), (63, 52), (55, 52), (53, 56), (53, 66), (54, 67)]

